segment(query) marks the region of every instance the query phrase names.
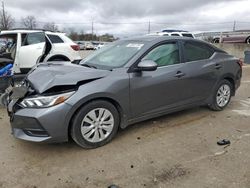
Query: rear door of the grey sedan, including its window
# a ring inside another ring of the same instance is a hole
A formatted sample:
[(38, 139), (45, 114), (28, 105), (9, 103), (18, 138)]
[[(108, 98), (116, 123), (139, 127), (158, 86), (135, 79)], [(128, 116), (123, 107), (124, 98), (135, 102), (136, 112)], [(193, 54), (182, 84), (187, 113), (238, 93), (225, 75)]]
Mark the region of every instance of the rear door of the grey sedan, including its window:
[(214, 49), (203, 42), (186, 40), (183, 51), (183, 71), (188, 83), (185, 94), (190, 102), (204, 100), (211, 95), (221, 74), (222, 64), (213, 58)]

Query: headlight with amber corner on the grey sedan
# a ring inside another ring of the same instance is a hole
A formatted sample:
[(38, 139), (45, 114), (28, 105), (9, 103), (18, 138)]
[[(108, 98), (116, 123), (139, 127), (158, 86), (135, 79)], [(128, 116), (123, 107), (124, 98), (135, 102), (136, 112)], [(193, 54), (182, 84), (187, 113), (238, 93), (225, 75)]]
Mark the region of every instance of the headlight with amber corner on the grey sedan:
[(27, 97), (20, 104), (23, 108), (46, 108), (63, 103), (73, 94), (74, 91), (58, 95)]

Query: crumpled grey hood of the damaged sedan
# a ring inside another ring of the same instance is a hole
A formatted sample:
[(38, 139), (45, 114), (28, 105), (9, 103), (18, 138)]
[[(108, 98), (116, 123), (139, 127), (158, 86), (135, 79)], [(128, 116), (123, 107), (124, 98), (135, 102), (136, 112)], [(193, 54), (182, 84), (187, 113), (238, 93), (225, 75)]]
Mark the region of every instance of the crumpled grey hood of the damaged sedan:
[(27, 75), (27, 80), (38, 93), (43, 93), (55, 86), (72, 86), (79, 82), (88, 82), (103, 78), (110, 73), (75, 65), (70, 62), (42, 63), (33, 68)]

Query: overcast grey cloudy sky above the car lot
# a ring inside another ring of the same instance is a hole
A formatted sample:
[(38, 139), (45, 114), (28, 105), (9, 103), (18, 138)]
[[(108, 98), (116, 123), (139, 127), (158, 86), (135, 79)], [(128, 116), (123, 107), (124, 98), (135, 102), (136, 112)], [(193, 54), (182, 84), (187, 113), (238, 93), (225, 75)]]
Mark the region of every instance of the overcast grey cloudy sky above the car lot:
[[(250, 29), (250, 0), (5, 0), (20, 26), (33, 15), (38, 25), (55, 22), (67, 28), (118, 37), (162, 29), (230, 31)], [(150, 22), (150, 24), (149, 24)], [(150, 27), (149, 27), (150, 25)], [(150, 28), (150, 29), (149, 29)]]

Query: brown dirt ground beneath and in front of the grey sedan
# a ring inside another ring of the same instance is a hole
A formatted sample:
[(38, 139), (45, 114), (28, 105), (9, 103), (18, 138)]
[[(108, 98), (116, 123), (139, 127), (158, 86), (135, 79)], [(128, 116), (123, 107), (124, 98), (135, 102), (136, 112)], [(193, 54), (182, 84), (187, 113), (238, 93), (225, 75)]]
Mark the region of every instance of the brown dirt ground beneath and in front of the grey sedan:
[[(0, 187), (250, 187), (250, 66), (222, 112), (194, 108), (128, 127), (108, 145), (36, 144), (0, 109)], [(228, 147), (218, 146), (229, 139)]]

